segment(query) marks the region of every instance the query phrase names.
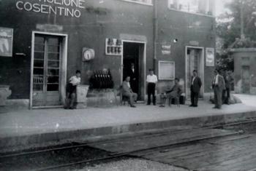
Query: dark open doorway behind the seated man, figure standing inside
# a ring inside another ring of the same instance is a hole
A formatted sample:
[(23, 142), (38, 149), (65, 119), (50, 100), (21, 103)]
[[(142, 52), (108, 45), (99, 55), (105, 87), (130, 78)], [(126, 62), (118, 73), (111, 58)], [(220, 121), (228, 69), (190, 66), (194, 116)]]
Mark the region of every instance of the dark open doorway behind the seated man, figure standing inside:
[(138, 94), (138, 100), (145, 99), (146, 55), (145, 43), (138, 41), (123, 41), (122, 80), (130, 76), (133, 92)]

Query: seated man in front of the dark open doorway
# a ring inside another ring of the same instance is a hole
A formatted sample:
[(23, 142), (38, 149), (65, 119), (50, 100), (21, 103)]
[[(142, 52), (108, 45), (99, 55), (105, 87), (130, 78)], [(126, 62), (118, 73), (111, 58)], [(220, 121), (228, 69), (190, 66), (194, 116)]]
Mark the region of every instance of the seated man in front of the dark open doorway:
[(137, 101), (138, 95), (135, 92), (132, 92), (131, 86), (129, 84), (130, 77), (127, 76), (126, 79), (123, 81), (121, 94), (123, 97), (129, 98), (128, 103), (132, 108), (135, 108), (134, 105), (135, 101)]

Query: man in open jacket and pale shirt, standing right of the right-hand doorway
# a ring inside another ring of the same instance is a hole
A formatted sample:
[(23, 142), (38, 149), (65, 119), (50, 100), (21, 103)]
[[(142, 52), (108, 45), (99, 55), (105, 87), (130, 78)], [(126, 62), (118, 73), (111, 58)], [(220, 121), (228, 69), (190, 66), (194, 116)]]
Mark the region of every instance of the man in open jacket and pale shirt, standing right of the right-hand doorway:
[(214, 80), (212, 82), (212, 87), (214, 89), (214, 108), (222, 108), (222, 92), (225, 89), (225, 80), (223, 76), (220, 75), (219, 70), (214, 71)]

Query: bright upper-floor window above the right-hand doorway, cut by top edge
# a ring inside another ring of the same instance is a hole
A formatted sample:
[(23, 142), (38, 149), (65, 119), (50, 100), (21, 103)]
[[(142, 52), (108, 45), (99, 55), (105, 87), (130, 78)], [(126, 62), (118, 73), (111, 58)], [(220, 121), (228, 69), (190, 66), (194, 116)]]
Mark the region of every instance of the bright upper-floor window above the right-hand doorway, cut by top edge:
[(183, 12), (214, 14), (214, 1), (211, 0), (168, 0), (168, 7)]

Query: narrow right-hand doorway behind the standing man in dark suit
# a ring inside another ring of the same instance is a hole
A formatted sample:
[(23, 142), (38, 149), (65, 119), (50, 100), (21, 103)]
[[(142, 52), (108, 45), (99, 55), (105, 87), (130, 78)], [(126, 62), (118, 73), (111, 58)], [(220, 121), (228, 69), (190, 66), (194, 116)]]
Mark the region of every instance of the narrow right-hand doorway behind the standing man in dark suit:
[[(186, 47), (186, 96), (190, 99), (192, 72), (197, 70), (198, 76), (204, 83), (204, 50), (203, 47)], [(203, 98), (204, 84), (200, 89), (199, 98)]]

